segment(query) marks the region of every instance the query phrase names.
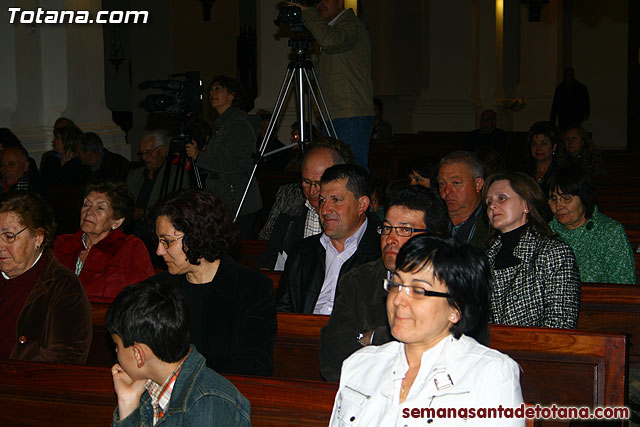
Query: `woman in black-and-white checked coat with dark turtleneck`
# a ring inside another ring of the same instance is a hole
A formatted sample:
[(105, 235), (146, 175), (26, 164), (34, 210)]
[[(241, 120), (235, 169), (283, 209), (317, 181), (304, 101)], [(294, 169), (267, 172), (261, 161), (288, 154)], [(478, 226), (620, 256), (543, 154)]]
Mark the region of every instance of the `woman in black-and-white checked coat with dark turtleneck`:
[(487, 250), (494, 286), (492, 323), (573, 329), (580, 308), (580, 273), (573, 250), (553, 237), (546, 200), (521, 172), (485, 181), (483, 198), (494, 230)]

